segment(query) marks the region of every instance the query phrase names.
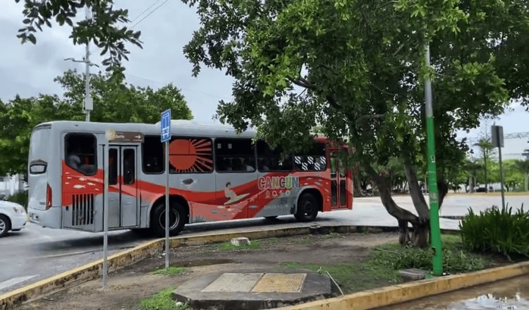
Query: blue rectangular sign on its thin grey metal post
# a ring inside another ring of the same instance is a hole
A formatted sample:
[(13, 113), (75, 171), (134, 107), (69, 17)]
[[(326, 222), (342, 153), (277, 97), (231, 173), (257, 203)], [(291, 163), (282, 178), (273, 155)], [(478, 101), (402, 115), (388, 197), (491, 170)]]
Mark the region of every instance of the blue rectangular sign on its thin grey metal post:
[(169, 268), (169, 141), (171, 140), (171, 109), (162, 112), (160, 120), (162, 143), (165, 143), (165, 268)]

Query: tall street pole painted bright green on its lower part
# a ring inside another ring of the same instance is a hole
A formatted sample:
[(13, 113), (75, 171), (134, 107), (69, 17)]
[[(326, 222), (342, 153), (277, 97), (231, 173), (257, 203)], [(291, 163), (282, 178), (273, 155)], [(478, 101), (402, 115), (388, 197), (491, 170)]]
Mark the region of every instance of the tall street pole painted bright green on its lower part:
[[(430, 45), (426, 45), (426, 64), (430, 68)], [(425, 78), (426, 99), (426, 135), (428, 144), (428, 187), (430, 195), (430, 235), (432, 236), (433, 274), (443, 274), (443, 252), (441, 229), (439, 227), (439, 192), (437, 190), (437, 173), (435, 166), (434, 112), (432, 106), (432, 81)]]

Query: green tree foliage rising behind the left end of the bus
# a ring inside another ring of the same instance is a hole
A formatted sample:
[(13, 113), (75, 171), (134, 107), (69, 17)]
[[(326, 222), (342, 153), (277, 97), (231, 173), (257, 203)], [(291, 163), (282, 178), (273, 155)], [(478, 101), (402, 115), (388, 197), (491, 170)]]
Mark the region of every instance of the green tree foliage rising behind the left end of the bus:
[[(165, 109), (176, 119), (192, 119), (180, 90), (171, 84), (159, 89), (126, 85), (121, 73), (99, 73), (90, 78), (95, 111), (93, 121), (156, 123)], [(0, 175), (25, 173), (28, 169), (30, 134), (35, 125), (50, 120), (84, 120), (83, 75), (74, 70), (56, 77), (65, 92), (56, 95), (0, 101)]]

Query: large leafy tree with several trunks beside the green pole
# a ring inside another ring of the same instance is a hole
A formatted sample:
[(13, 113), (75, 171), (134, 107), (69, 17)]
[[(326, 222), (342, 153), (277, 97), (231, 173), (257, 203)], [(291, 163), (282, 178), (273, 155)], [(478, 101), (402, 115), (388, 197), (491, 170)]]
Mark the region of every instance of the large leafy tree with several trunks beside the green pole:
[[(497, 61), (501, 53), (511, 66), (525, 61), (506, 47), (527, 35), (516, 21), (527, 14), (523, 1), (514, 1), (516, 10), (455, 0), (183, 2), (197, 7), (201, 23), (184, 47), (193, 75), (208, 66), (235, 79), (219, 119), (238, 130), (253, 125), (285, 151), (308, 145), (315, 125), (331, 140), (347, 137), (353, 162), (399, 221), (401, 244), (427, 246), (430, 214), (417, 178), (427, 162), (424, 78), (433, 79), (440, 204), (448, 190), (442, 167), (466, 151), (455, 130), (501, 113), (515, 92), (527, 94), (512, 73), (499, 72), (507, 61)], [(418, 215), (394, 202), (389, 180), (373, 166), (393, 157), (403, 161)]]

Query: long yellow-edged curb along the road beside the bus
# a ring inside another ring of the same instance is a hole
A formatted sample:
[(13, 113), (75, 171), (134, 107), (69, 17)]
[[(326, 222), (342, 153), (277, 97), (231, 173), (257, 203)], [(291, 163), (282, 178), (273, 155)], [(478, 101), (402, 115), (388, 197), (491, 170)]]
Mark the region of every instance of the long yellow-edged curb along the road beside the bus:
[[(399, 228), (389, 226), (356, 226), (356, 225), (311, 225), (293, 228), (272, 228), (243, 230), (233, 233), (217, 233), (214, 235), (194, 235), (190, 237), (171, 237), (170, 247), (193, 244), (211, 244), (225, 242), (236, 237), (248, 237), (250, 239), (265, 239), (269, 237), (287, 237), (293, 235), (311, 235), (327, 233), (387, 233), (397, 232)], [(458, 230), (442, 230), (444, 234), (458, 234)], [(165, 240), (157, 239), (140, 244), (132, 249), (113, 254), (108, 257), (109, 273), (130, 266), (133, 263), (147, 259), (164, 252)], [(12, 309), (25, 302), (32, 302), (48, 294), (65, 290), (68, 287), (79, 285), (88, 280), (94, 280), (102, 276), (103, 259), (99, 259), (84, 266), (71, 269), (20, 287), (6, 294), (0, 295), (0, 309)]]

